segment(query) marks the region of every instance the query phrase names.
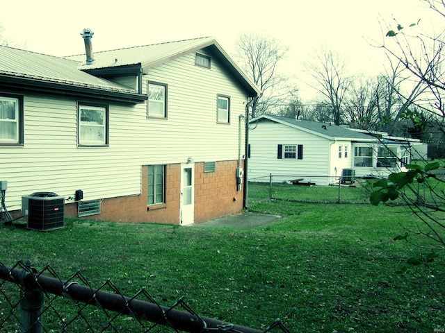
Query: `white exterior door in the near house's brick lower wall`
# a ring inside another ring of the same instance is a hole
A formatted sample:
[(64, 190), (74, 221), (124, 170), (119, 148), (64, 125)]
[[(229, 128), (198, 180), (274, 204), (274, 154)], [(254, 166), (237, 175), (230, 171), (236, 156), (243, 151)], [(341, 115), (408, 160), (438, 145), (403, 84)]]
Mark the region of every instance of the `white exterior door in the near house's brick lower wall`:
[(181, 225), (195, 222), (195, 164), (181, 164)]

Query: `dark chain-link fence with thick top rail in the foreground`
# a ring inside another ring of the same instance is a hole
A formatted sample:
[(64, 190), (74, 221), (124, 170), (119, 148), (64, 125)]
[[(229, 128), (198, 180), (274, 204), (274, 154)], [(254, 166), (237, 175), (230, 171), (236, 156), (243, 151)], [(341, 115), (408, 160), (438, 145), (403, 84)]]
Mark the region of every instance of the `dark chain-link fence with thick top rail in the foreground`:
[(164, 307), (145, 289), (127, 297), (109, 280), (99, 289), (92, 288), (80, 272), (62, 281), (50, 266), (38, 273), (31, 262), (18, 262), (12, 268), (0, 263), (0, 332), (165, 332), (165, 329), (204, 333), (258, 333), (275, 329), (289, 332), (279, 319), (259, 331), (200, 316), (186, 305), (184, 298)]

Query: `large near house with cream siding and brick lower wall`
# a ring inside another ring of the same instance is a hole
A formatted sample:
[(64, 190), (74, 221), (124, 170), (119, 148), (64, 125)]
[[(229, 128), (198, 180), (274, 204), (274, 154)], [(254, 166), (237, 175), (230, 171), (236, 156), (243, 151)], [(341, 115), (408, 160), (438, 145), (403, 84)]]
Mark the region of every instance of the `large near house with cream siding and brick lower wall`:
[(260, 92), (218, 42), (92, 53), (82, 35), (86, 53), (67, 58), (0, 46), (0, 180), (13, 216), (40, 191), (65, 197), (65, 216), (106, 221), (241, 211), (240, 116)]

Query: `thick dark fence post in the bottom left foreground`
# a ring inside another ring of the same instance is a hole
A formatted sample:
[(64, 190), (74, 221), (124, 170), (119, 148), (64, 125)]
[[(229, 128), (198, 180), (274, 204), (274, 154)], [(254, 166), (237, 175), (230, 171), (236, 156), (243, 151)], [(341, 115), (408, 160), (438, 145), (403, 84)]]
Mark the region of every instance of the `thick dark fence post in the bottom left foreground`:
[(44, 293), (42, 289), (35, 283), (30, 284), (26, 280), (31, 276), (31, 272), (37, 273), (35, 268), (31, 267), (31, 261), (28, 259), (25, 264), (26, 268), (22, 269), (19, 275), (20, 289), (20, 323), (22, 333), (42, 333), (42, 307), (44, 305)]

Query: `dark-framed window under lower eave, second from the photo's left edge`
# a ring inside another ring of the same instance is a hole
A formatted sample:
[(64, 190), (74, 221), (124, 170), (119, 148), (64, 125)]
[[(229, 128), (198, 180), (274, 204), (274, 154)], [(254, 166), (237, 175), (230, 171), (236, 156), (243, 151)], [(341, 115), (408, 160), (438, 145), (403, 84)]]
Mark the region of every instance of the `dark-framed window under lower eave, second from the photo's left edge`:
[(108, 145), (108, 105), (78, 106), (78, 144), (80, 146)]

